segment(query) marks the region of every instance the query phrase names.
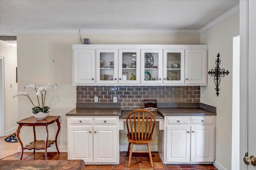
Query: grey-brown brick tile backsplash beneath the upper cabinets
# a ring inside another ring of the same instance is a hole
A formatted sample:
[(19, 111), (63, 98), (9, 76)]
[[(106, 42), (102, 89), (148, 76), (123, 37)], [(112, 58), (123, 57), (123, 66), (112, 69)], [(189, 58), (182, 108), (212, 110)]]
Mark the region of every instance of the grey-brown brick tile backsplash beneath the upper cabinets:
[(122, 109), (143, 109), (144, 99), (156, 99), (158, 103), (198, 103), (200, 86), (76, 86), (76, 102), (113, 102), (117, 96)]

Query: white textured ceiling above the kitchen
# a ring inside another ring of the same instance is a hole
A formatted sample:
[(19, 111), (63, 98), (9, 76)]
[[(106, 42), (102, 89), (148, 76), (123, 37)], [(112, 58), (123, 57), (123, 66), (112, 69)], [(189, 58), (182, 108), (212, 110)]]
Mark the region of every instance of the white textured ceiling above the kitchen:
[(200, 29), (239, 0), (0, 0), (0, 35), (13, 29)]

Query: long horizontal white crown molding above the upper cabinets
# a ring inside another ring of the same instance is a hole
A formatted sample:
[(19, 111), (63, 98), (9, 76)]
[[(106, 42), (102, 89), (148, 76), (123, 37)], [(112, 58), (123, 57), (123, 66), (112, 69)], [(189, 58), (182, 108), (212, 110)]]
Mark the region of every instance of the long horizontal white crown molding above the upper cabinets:
[[(77, 34), (79, 29), (13, 29), (17, 34)], [(80, 29), (81, 34), (199, 34), (197, 29)]]

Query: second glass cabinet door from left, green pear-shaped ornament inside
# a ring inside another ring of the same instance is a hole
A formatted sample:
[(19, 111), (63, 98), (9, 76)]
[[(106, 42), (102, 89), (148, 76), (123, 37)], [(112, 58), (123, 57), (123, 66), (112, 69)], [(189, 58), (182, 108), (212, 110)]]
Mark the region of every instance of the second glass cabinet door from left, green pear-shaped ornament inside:
[(140, 83), (140, 50), (119, 49), (119, 83)]

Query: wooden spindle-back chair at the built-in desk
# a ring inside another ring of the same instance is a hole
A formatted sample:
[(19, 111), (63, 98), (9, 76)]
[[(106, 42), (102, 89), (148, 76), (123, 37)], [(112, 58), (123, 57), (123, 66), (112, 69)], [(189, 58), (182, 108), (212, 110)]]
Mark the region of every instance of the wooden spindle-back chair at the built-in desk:
[[(128, 151), (129, 155), (128, 168), (130, 168), (132, 152), (144, 153), (148, 152), (150, 164), (153, 168), (152, 156), (149, 144), (152, 143), (152, 135), (156, 125), (156, 118), (151, 111), (137, 109), (128, 114), (126, 117)], [(148, 151), (132, 151), (133, 145), (148, 145)]]

